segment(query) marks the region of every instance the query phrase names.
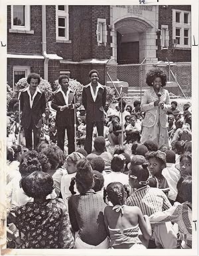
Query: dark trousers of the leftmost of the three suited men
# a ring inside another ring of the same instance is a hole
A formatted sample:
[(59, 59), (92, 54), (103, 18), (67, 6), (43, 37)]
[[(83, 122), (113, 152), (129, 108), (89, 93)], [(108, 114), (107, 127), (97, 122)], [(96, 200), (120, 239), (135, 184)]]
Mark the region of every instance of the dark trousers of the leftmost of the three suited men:
[(33, 148), (32, 130), (34, 134), (34, 149), (36, 149), (36, 147), (40, 143), (40, 128), (36, 128), (36, 126), (33, 123), (33, 120), (31, 120), (29, 128), (24, 128), (26, 147), (29, 150), (32, 150)]

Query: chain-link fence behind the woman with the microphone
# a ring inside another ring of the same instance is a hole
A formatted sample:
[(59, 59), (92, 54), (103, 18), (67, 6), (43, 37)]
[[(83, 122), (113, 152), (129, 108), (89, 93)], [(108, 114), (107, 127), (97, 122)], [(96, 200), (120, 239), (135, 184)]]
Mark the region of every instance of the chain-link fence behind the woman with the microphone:
[[(149, 86), (146, 84), (147, 72), (152, 68), (165, 70), (167, 76), (166, 89), (170, 98), (186, 98), (192, 96), (191, 63), (157, 63), (157, 64), (122, 64), (107, 66), (107, 86), (124, 81), (129, 87), (123, 88), (125, 98), (140, 99)], [(116, 82), (117, 81), (117, 82)]]

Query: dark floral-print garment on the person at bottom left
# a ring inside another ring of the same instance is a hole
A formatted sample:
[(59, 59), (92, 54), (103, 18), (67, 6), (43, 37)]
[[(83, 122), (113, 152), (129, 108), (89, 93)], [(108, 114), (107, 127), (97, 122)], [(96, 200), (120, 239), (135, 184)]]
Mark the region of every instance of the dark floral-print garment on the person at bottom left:
[(68, 212), (62, 199), (29, 202), (15, 207), (7, 219), (21, 232), (19, 248), (56, 249), (72, 248), (74, 245)]

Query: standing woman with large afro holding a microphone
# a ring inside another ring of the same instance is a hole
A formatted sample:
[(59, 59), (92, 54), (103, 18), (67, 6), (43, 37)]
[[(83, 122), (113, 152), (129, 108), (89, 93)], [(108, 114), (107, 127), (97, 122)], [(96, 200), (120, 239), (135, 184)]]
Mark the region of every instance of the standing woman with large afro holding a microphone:
[(141, 101), (141, 111), (145, 111), (141, 142), (151, 140), (159, 146), (168, 145), (168, 122), (166, 111), (171, 108), (166, 85), (166, 74), (155, 68), (147, 73), (146, 82), (151, 88), (145, 91)]

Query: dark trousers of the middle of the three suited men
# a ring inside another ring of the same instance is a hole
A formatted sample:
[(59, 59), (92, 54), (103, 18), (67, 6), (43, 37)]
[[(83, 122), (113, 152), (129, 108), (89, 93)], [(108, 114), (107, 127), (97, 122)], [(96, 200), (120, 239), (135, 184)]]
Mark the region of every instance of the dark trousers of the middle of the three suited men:
[(65, 139), (65, 131), (67, 130), (68, 137), (68, 154), (71, 154), (75, 151), (74, 144), (74, 126), (58, 126), (57, 128), (57, 146), (60, 147), (61, 150), (64, 151), (64, 139)]

